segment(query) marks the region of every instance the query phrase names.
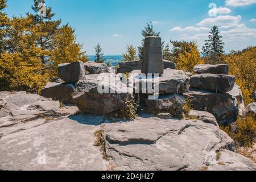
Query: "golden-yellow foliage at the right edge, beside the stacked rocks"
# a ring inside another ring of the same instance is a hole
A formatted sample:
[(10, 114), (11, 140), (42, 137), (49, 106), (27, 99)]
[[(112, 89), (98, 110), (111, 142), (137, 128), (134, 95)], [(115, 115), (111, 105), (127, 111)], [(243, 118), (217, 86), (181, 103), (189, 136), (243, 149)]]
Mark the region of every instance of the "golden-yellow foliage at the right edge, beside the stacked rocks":
[(229, 74), (236, 76), (245, 104), (254, 102), (252, 95), (256, 82), (256, 48), (250, 47), (245, 51), (232, 53), (226, 56), (225, 61), (229, 64)]

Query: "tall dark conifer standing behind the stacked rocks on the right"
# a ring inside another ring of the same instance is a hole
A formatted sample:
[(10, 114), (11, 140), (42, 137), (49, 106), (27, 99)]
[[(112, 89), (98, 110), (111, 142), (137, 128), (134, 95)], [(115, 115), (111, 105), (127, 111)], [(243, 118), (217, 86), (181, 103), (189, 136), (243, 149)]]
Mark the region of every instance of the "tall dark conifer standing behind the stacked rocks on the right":
[(208, 40), (205, 40), (205, 46), (203, 46), (203, 55), (208, 62), (219, 63), (221, 57), (224, 55), (224, 42), (222, 42), (222, 36), (217, 26), (213, 26), (209, 32)]

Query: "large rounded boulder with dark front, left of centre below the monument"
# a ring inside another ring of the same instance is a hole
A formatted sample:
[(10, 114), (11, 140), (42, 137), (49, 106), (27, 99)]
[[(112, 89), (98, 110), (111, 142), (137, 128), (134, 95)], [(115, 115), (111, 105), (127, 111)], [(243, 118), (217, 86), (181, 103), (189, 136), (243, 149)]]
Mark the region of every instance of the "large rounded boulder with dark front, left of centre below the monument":
[[(105, 115), (122, 109), (126, 101), (133, 99), (133, 88), (122, 83), (115, 85), (115, 79), (110, 78), (110, 73), (103, 74), (101, 78), (77, 82), (73, 102), (81, 111)], [(104, 90), (99, 91), (98, 88)]]

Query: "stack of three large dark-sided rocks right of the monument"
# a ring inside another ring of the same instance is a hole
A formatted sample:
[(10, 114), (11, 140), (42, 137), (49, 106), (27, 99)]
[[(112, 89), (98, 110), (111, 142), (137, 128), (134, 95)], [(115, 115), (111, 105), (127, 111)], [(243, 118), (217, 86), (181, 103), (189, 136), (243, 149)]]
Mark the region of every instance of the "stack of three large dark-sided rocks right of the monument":
[(219, 123), (230, 123), (245, 113), (241, 90), (235, 77), (229, 76), (229, 65), (196, 65), (197, 75), (190, 78), (190, 90), (184, 93), (195, 110), (208, 111)]

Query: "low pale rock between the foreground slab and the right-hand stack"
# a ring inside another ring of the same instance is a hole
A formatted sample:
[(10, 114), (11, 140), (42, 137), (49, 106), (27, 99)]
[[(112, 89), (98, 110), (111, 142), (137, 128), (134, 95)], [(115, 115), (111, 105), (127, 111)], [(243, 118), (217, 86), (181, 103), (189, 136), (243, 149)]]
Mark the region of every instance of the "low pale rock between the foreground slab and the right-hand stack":
[(188, 116), (190, 119), (198, 119), (205, 123), (212, 123), (213, 125), (218, 126), (218, 123), (217, 123), (214, 115), (212, 115), (206, 111), (191, 110), (191, 111), (189, 111)]

